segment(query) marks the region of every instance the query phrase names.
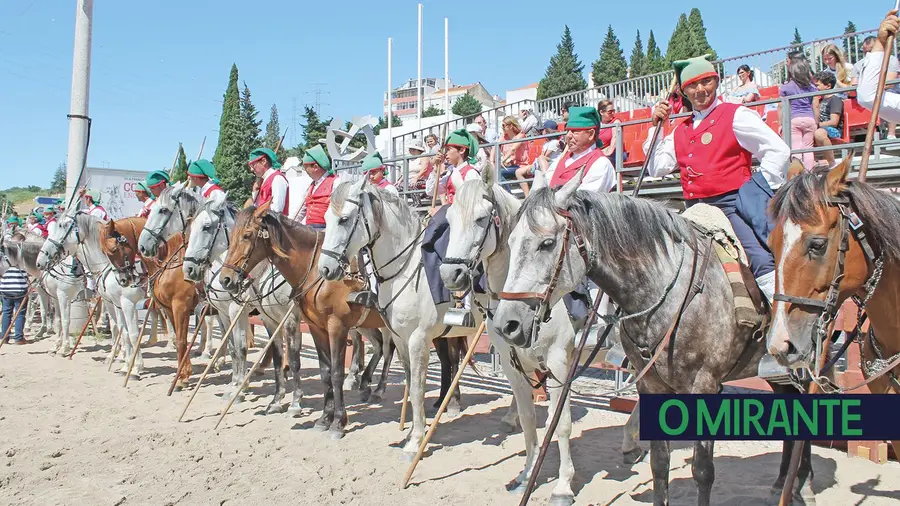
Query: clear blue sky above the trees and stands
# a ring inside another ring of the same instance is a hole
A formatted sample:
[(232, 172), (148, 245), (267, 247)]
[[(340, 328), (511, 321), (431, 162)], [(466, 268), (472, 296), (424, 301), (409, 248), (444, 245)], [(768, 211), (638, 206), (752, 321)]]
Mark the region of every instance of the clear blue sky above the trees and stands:
[[(263, 120), (278, 106), (282, 131), (293, 100), (302, 111), (316, 83), (325, 116), (380, 115), (387, 87), (416, 76), (416, 1), (96, 0), (88, 165), (168, 167), (183, 142), (196, 156), (215, 150), (222, 94), (232, 63), (250, 86)], [(538, 81), (568, 24), (585, 71), (608, 24), (626, 58), (636, 30), (652, 29), (663, 50), (678, 15), (698, 7), (720, 57), (843, 31), (848, 20), (874, 28), (893, 2), (797, 4), (681, 2), (485, 2), (424, 0), (423, 76), (444, 74), (444, 17), (450, 18), (450, 78), (481, 81), (492, 94)], [(883, 5), (882, 5), (883, 4)], [(746, 14), (746, 10), (755, 13)], [(763, 14), (777, 13), (777, 14)], [(0, 3), (0, 188), (46, 186), (65, 160), (71, 92), (74, 0)], [(299, 113), (298, 113), (299, 116)], [(293, 128), (292, 128), (293, 130)], [(299, 141), (299, 132), (295, 132)], [(290, 141), (288, 133), (286, 142)]]

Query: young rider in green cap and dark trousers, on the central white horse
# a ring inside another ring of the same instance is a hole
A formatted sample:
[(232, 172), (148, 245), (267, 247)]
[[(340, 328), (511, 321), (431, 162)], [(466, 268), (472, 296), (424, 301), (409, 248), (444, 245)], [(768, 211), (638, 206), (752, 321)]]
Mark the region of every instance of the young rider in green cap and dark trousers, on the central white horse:
[[(447, 246), (450, 241), (450, 224), (447, 222), (447, 209), (449, 204), (453, 203), (453, 197), (456, 195), (456, 187), (453, 185), (450, 176), (454, 172), (458, 172), (463, 181), (471, 181), (480, 179), (481, 175), (474, 164), (478, 163), (478, 139), (467, 129), (462, 128), (450, 133), (444, 141), (446, 152), (441, 160), (441, 164), (447, 162), (446, 186), (438, 185), (438, 193), (444, 193), (447, 198), (447, 204), (441, 206), (437, 211), (432, 211), (434, 216), (428, 222), (425, 228), (425, 235), (422, 241), (422, 257), (425, 263), (425, 276), (428, 279), (428, 286), (431, 289), (431, 297), (434, 299), (435, 305), (450, 302), (450, 291), (444, 286), (440, 277), (440, 266), (447, 254)], [(440, 167), (440, 164), (437, 164)], [(438, 170), (435, 170), (435, 177), (438, 176)], [(443, 190), (443, 191), (442, 191)], [(480, 283), (479, 283), (480, 284)], [(483, 287), (476, 287), (481, 290)], [(471, 294), (466, 295), (465, 308), (469, 309)], [(474, 327), (475, 322), (472, 314), (467, 312), (463, 326)]]

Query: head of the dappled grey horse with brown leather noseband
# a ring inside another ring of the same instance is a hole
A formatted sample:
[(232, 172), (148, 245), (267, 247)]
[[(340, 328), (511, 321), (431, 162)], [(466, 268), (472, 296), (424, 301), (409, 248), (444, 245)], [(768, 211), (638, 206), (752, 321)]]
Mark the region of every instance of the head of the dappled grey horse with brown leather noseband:
[(552, 190), (537, 171), (522, 203), (521, 219), (510, 233), (509, 273), (492, 324), (514, 346), (530, 346), (550, 308), (587, 274), (569, 217), (580, 180), (581, 171)]

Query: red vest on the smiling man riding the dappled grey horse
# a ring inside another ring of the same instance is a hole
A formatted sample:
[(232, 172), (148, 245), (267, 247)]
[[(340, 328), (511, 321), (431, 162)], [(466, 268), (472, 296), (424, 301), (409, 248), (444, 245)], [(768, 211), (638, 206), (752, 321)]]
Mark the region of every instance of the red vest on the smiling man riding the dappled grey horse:
[(740, 104), (720, 103), (694, 128), (693, 118), (675, 127), (675, 159), (686, 200), (737, 190), (750, 179), (750, 152), (734, 136)]

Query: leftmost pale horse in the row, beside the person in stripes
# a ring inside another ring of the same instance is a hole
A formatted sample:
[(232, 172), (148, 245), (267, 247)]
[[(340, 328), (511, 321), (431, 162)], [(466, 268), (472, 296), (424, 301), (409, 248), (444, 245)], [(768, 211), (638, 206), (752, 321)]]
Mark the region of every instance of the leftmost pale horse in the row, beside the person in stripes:
[(52, 353), (57, 353), (63, 343), (72, 346), (69, 337), (71, 303), (84, 290), (85, 279), (83, 274), (72, 274), (74, 257), (66, 258), (49, 270), (39, 268), (37, 257), (44, 241), (36, 236), (4, 240), (3, 252), (10, 265), (24, 270), (31, 279), (37, 280), (35, 290), (41, 307), (41, 330), (35, 337), (42, 337), (48, 331), (55, 332), (59, 342)]

